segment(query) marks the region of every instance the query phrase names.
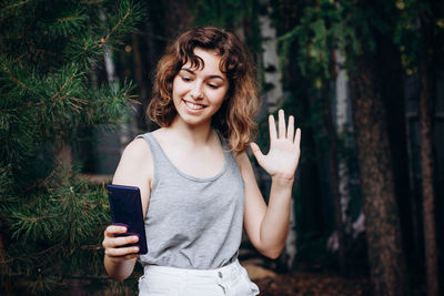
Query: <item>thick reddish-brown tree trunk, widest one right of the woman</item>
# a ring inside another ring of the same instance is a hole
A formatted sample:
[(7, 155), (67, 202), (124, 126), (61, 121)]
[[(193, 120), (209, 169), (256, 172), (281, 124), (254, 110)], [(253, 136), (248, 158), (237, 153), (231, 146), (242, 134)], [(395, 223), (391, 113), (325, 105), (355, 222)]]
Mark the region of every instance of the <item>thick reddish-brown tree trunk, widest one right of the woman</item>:
[[(375, 295), (405, 295), (405, 261), (385, 110), (367, 55), (355, 59), (350, 89), (357, 147), (372, 288)], [(371, 55), (370, 55), (371, 57)]]

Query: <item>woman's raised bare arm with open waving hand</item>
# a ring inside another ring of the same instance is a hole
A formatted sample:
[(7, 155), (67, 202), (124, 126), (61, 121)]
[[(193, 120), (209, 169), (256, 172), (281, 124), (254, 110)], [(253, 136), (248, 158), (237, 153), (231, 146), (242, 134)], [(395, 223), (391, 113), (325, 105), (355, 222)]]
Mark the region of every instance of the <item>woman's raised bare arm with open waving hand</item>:
[(243, 153), (238, 163), (245, 183), (245, 232), (259, 252), (276, 258), (286, 241), (290, 221), (291, 194), (294, 173), (300, 157), (301, 131), (294, 133), (294, 119), (290, 116), (285, 129), (284, 113), (279, 112), (279, 132), (270, 116), (270, 151), (263, 155), (255, 143), (251, 144), (259, 164), (271, 175), (269, 206), (263, 201), (250, 160)]

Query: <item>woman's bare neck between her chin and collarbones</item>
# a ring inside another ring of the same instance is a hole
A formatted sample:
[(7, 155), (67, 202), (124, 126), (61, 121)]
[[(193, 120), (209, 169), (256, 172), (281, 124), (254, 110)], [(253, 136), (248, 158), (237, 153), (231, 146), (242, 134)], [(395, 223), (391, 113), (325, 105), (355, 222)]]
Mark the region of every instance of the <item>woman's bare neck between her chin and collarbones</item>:
[(212, 137), (211, 122), (190, 125), (175, 118), (169, 126), (178, 137), (189, 140), (193, 144), (208, 144)]

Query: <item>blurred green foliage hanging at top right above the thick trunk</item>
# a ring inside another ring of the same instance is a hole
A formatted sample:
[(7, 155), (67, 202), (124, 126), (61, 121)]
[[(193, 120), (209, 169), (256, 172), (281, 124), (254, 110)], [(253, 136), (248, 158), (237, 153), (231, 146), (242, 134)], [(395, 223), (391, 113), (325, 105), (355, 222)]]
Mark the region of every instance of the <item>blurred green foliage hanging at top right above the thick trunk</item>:
[(392, 1), (370, 6), (365, 1), (320, 0), (302, 10), (299, 23), (279, 38), (282, 63), (287, 65), (290, 50), (296, 42), (302, 73), (320, 79), (331, 76), (335, 50), (346, 55), (347, 69), (354, 68), (356, 58), (375, 52), (375, 40), (392, 33), (397, 16)]

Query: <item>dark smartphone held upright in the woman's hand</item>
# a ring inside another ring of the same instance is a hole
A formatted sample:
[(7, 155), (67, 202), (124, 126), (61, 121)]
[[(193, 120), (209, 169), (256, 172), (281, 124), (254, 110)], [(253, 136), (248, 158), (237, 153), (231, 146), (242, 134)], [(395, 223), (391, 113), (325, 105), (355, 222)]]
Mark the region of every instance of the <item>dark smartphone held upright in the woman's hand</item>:
[(137, 235), (139, 242), (125, 246), (139, 246), (140, 254), (147, 254), (147, 237), (140, 190), (134, 186), (108, 185), (112, 224), (128, 227), (121, 236)]

